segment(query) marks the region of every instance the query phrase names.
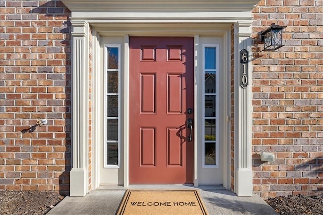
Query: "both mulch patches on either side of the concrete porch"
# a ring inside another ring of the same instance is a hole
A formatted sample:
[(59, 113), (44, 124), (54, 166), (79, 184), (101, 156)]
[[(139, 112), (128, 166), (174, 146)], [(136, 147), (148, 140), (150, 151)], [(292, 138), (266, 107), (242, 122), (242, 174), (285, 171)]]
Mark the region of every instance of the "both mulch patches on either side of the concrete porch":
[[(58, 192), (0, 191), (0, 214), (46, 214), (64, 197)], [(323, 215), (323, 197), (280, 196), (266, 202), (283, 215)]]

